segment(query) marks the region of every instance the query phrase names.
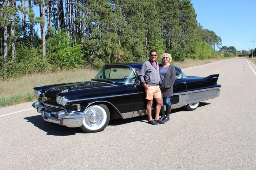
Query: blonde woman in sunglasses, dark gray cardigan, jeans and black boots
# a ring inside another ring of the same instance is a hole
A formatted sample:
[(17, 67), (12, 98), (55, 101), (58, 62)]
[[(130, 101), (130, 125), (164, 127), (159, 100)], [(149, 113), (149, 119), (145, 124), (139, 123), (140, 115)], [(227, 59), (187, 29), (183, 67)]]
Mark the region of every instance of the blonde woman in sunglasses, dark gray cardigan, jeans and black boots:
[(175, 81), (175, 67), (170, 64), (172, 57), (168, 53), (164, 53), (161, 56), (162, 65), (160, 66), (160, 89), (162, 91), (163, 104), (165, 103), (165, 108), (161, 107), (160, 115), (161, 120), (167, 122), (170, 120), (171, 113), (171, 97), (173, 96), (173, 84)]

